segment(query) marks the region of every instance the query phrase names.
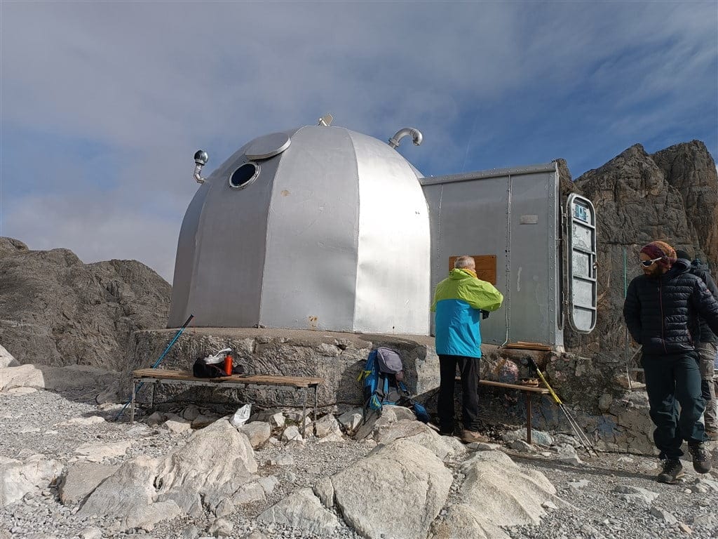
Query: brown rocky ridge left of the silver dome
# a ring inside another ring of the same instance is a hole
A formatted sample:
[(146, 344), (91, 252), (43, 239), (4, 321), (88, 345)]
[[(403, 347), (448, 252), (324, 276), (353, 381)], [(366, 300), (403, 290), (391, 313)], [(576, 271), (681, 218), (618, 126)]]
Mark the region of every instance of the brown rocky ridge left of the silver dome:
[(20, 363), (116, 369), (132, 332), (166, 325), (171, 290), (136, 260), (84, 264), (0, 238), (0, 343)]

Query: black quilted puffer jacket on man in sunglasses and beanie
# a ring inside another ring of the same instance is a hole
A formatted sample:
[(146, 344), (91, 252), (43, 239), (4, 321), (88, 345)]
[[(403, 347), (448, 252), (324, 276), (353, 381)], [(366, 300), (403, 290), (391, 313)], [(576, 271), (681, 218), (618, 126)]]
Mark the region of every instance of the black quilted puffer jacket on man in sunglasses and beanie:
[(685, 260), (658, 279), (639, 275), (628, 285), (623, 317), (645, 354), (693, 350), (699, 341), (698, 315), (718, 333), (718, 301)]

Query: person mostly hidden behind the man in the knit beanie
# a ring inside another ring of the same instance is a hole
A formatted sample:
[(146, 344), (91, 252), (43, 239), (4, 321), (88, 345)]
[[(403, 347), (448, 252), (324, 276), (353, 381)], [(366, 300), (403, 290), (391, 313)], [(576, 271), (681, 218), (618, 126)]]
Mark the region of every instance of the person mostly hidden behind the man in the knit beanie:
[[(688, 262), (691, 255), (686, 251), (676, 249), (676, 257)], [(713, 277), (708, 270), (707, 264), (701, 263), (699, 259), (691, 262), (689, 267), (696, 277), (699, 277), (710, 290), (716, 300), (718, 300), (718, 286), (716, 286)], [(696, 351), (699, 356), (699, 369), (701, 371), (701, 395), (705, 401), (705, 410), (703, 412), (703, 422), (706, 428), (706, 436), (711, 440), (718, 440), (718, 421), (716, 420), (716, 394), (714, 387), (715, 369), (713, 362), (715, 361), (716, 352), (718, 351), (718, 337), (711, 331), (708, 324), (701, 318), (701, 336), (700, 341), (696, 343)]]

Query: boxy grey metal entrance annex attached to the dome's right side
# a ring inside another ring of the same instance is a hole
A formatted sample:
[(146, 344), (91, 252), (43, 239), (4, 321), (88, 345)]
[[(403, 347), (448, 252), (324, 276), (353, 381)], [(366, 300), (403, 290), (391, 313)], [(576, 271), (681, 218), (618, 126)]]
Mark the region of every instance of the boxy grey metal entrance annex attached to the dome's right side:
[[(556, 163), (421, 178), (432, 234), (432, 290), (449, 259), (495, 255), (503, 307), (481, 321), (488, 344), (563, 347), (561, 203)], [(432, 333), (434, 321), (432, 318)]]

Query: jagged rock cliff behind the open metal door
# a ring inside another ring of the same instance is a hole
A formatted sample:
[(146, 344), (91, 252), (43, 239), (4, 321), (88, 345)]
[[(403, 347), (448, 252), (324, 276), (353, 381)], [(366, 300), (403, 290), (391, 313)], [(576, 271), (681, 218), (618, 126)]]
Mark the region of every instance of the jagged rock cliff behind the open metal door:
[[(694, 140), (653, 155), (635, 144), (600, 168), (568, 183), (561, 167), (561, 192), (587, 196), (597, 213), (598, 318), (589, 335), (566, 331), (567, 349), (588, 359), (555, 359), (547, 366), (569, 402), (595, 408), (603, 389), (623, 393), (615, 377), (625, 372), (625, 285), (640, 275), (638, 252), (654, 239), (718, 265), (718, 175), (705, 144)], [(625, 262), (624, 262), (625, 249)], [(628, 342), (628, 357), (638, 347)], [(638, 367), (635, 359), (630, 367)], [(586, 375), (589, 373), (589, 375)]]

